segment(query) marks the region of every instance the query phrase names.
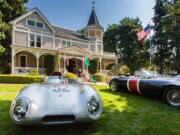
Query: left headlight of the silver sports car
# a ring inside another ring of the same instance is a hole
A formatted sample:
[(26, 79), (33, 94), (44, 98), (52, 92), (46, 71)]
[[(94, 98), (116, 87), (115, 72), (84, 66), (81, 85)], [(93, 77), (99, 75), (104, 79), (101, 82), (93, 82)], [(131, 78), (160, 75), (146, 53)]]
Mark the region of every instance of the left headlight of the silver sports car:
[(21, 121), (25, 118), (29, 105), (30, 101), (27, 98), (19, 98), (15, 101), (13, 116), (16, 121)]

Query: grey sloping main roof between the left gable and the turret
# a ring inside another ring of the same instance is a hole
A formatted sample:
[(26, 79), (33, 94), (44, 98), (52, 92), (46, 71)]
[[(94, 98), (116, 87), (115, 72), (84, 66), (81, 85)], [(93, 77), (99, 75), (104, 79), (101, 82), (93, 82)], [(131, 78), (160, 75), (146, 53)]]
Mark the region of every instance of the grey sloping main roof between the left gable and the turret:
[(88, 39), (86, 39), (84, 37), (84, 35), (76, 32), (76, 31), (65, 29), (65, 28), (62, 28), (62, 27), (59, 27), (59, 26), (53, 26), (53, 28), (56, 31), (56, 36), (69, 37), (69, 38), (72, 38), (72, 39), (84, 40), (86, 42), (88, 41)]

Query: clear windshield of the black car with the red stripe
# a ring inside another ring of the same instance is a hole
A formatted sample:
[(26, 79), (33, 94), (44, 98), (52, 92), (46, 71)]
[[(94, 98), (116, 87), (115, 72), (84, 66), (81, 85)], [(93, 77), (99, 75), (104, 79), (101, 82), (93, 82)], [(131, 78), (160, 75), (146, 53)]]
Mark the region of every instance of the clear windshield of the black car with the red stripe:
[(135, 72), (135, 77), (138, 77), (138, 78), (141, 78), (141, 79), (152, 79), (152, 78), (161, 77), (161, 75), (158, 74), (155, 71), (138, 70), (138, 71)]

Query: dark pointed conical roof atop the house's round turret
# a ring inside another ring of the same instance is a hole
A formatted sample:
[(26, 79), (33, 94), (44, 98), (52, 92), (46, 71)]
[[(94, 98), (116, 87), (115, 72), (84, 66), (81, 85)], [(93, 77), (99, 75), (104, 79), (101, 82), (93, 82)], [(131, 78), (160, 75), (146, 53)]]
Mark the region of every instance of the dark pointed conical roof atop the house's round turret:
[(97, 16), (96, 16), (96, 12), (95, 12), (94, 8), (92, 9), (91, 16), (90, 16), (90, 18), (89, 18), (89, 21), (88, 21), (87, 26), (90, 26), (90, 25), (101, 26), (101, 25), (99, 24), (99, 21), (98, 21), (98, 18), (97, 18)]

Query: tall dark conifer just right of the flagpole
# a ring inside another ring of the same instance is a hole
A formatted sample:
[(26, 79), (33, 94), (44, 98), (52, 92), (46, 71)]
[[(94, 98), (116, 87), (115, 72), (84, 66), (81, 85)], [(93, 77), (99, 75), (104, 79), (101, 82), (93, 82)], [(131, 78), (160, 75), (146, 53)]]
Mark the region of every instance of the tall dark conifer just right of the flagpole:
[(163, 72), (165, 66), (168, 66), (171, 56), (171, 46), (168, 43), (169, 31), (165, 31), (163, 27), (166, 25), (165, 17), (167, 16), (168, 0), (156, 0), (154, 7), (155, 15), (154, 22), (154, 35), (152, 43), (156, 49), (154, 63), (160, 66), (160, 73)]

